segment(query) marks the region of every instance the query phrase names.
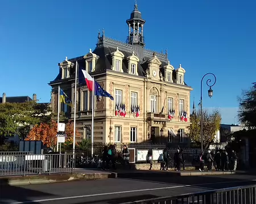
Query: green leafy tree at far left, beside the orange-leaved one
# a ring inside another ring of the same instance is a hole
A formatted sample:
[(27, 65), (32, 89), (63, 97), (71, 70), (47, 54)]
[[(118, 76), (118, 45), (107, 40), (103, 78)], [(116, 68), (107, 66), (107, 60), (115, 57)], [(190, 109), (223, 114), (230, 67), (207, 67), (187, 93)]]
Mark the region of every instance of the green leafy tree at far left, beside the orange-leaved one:
[[(48, 104), (39, 104), (35, 101), (25, 103), (0, 104), (0, 137), (1, 141), (6, 136), (18, 134), (26, 137), (30, 125), (40, 124), (51, 120), (51, 108)], [(0, 141), (0, 145), (2, 142)]]

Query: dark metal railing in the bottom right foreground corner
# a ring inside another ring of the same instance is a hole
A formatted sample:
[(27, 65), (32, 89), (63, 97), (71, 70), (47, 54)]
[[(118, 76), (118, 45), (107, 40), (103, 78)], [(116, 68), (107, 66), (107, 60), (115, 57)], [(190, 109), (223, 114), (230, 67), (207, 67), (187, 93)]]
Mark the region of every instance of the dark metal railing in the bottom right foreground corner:
[(238, 186), (207, 192), (160, 197), (122, 204), (256, 204), (256, 185)]

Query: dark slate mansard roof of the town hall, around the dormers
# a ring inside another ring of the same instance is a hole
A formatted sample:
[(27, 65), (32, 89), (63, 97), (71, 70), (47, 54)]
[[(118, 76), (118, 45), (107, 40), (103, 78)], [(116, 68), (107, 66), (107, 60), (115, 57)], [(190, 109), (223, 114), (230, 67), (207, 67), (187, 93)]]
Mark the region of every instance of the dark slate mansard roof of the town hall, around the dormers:
[[(99, 37), (98, 39), (98, 44), (96, 48), (93, 50), (93, 53), (98, 56), (98, 59), (96, 60), (96, 66), (95, 66), (95, 71), (94, 73), (90, 73), (91, 75), (94, 74), (99, 74), (99, 73), (106, 73), (106, 70), (111, 70), (112, 68), (112, 56), (111, 53), (115, 52), (117, 50), (117, 47), (119, 51), (121, 51), (124, 55), (125, 58), (122, 61), (122, 69), (124, 73), (128, 73), (128, 62), (127, 62), (127, 57), (131, 56), (132, 52), (135, 52), (135, 55), (137, 55), (140, 59), (138, 62), (138, 75), (139, 76), (144, 76), (145, 71), (147, 69), (147, 63), (145, 63), (148, 59), (151, 59), (153, 57), (153, 53), (155, 54), (156, 57), (162, 62), (162, 65), (160, 68), (160, 71), (162, 75), (164, 76), (164, 70), (163, 66), (167, 65), (168, 63), (168, 58), (167, 58), (167, 53), (157, 53), (152, 50), (147, 50), (144, 49), (143, 46), (134, 46), (127, 44), (125, 42), (117, 41), (110, 39), (108, 37)], [(71, 61), (75, 63), (76, 61), (79, 63), (79, 67), (85, 68), (85, 59), (84, 56), (76, 57), (76, 58), (71, 58), (68, 59), (68, 61)], [(120, 73), (122, 74), (122, 73)], [(75, 69), (71, 69), (70, 73), (71, 78), (75, 77)], [(145, 77), (145, 76), (144, 76)], [(61, 69), (59, 70), (59, 74), (57, 77), (52, 81), (52, 82), (57, 82), (58, 80), (61, 80)], [(62, 80), (68, 80), (68, 79), (62, 79)], [(172, 74), (172, 80), (175, 82), (176, 81), (176, 74), (175, 70), (174, 73)], [(51, 83), (50, 83), (51, 84)], [(187, 84), (185, 84), (187, 86)]]

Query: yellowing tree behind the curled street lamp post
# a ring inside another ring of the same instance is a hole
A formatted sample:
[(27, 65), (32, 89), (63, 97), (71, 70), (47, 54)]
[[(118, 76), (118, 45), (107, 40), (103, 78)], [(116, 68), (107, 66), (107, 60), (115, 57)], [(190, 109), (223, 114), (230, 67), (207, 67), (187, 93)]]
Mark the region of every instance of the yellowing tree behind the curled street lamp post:
[[(189, 138), (197, 145), (201, 145), (201, 113), (197, 111), (191, 115), (191, 125), (189, 126)], [(208, 148), (214, 143), (216, 131), (220, 130), (221, 114), (217, 110), (209, 113), (203, 110), (203, 147)]]

